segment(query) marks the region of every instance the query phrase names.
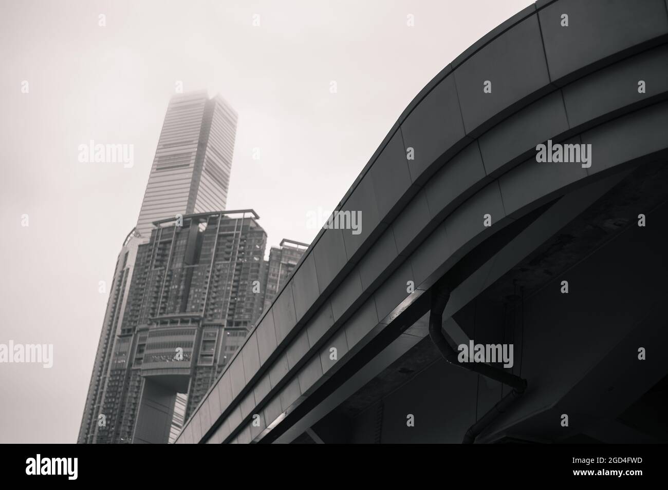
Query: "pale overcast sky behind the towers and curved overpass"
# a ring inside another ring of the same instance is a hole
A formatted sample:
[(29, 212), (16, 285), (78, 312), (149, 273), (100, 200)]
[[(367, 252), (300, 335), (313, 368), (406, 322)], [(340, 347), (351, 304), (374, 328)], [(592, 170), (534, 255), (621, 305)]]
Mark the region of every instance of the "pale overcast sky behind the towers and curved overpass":
[[(98, 283), (136, 224), (176, 81), (238, 111), (228, 209), (255, 209), (269, 245), (310, 243), (307, 213), (335, 207), (420, 89), (530, 3), (1, 0), (0, 343), (51, 343), (54, 359), (0, 363), (0, 443), (76, 441)], [(79, 163), (91, 139), (134, 145), (134, 166)]]

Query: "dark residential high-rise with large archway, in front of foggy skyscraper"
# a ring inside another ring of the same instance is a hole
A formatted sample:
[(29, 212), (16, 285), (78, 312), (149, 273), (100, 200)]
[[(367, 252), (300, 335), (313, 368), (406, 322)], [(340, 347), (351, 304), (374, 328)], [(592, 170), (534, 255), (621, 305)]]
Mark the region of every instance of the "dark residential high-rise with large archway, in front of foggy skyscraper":
[(267, 234), (257, 219), (246, 209), (156, 221), (136, 247), (99, 413), (84, 414), (80, 442), (174, 437), (261, 314)]

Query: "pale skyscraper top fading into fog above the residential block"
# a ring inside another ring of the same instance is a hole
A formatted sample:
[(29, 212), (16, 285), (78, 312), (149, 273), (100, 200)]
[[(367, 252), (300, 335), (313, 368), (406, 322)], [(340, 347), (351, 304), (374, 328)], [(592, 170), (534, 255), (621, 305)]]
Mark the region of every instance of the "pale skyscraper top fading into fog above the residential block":
[(167, 107), (137, 231), (177, 214), (225, 209), (237, 115), (220, 95), (175, 95)]

